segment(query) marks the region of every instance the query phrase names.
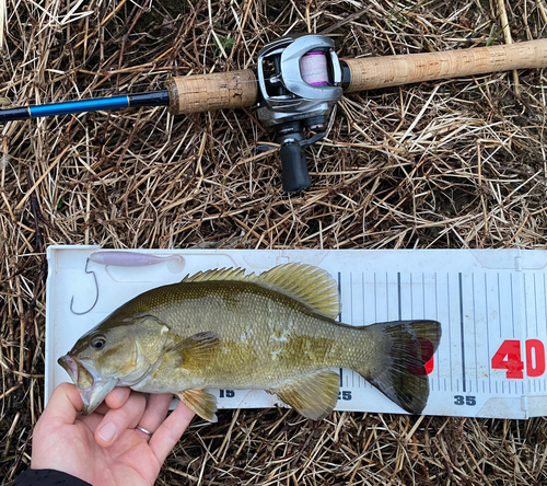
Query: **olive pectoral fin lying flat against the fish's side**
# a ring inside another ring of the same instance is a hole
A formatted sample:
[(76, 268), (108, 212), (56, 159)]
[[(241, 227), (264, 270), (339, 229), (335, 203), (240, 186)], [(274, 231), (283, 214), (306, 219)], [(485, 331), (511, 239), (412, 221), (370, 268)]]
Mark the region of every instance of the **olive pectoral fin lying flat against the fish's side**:
[(194, 334), (172, 347), (171, 355), (174, 366), (195, 370), (202, 368), (218, 351), (220, 345), (219, 335), (212, 332)]

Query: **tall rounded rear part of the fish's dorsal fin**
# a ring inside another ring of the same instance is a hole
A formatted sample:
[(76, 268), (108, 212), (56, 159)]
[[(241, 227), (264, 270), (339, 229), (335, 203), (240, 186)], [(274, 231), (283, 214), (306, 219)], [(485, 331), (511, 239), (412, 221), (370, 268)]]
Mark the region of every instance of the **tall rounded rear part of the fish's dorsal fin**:
[(323, 268), (291, 263), (255, 278), (257, 284), (296, 298), (327, 317), (336, 319), (340, 313), (338, 286)]

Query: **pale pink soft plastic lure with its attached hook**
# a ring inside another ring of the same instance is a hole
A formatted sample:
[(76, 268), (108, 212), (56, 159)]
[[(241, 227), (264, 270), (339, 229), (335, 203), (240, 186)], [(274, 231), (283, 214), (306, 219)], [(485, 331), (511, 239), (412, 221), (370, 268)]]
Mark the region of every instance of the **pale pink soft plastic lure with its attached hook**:
[(185, 266), (185, 259), (184, 256), (182, 255), (158, 256), (150, 253), (120, 252), (120, 251), (107, 251), (107, 250), (93, 252), (85, 262), (85, 273), (92, 274), (93, 278), (95, 279), (95, 287), (97, 289), (95, 301), (93, 302), (93, 305), (89, 310), (84, 312), (77, 312), (73, 309), (74, 296), (72, 296), (72, 299), (70, 300), (70, 311), (77, 315), (83, 315), (86, 314), (88, 312), (91, 312), (98, 301), (97, 277), (93, 270), (88, 269), (88, 265), (90, 262), (100, 265), (105, 265), (105, 266), (108, 265), (117, 267), (146, 267), (149, 265), (158, 265), (166, 262), (167, 269), (173, 274), (182, 271)]

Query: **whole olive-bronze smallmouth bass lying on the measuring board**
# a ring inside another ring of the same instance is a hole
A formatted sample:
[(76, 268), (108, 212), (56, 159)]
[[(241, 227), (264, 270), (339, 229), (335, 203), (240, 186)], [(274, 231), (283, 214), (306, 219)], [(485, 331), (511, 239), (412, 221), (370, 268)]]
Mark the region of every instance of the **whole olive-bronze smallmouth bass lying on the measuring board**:
[(61, 364), (91, 414), (115, 386), (176, 394), (214, 420), (205, 389), (266, 390), (304, 417), (336, 406), (339, 375), (357, 371), (403, 409), (420, 414), (429, 397), (424, 364), (441, 338), (437, 321), (362, 327), (339, 314), (336, 281), (317, 267), (280, 265), (200, 271), (137, 296), (85, 333)]

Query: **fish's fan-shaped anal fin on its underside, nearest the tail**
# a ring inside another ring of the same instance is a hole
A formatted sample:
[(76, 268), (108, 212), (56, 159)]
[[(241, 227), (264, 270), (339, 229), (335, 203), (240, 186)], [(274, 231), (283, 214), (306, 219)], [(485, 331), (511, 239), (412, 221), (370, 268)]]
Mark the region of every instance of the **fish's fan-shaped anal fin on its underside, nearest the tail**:
[(338, 401), (339, 390), (338, 373), (318, 371), (294, 380), (281, 389), (267, 390), (267, 392), (279, 396), (304, 417), (321, 420), (333, 412)]

